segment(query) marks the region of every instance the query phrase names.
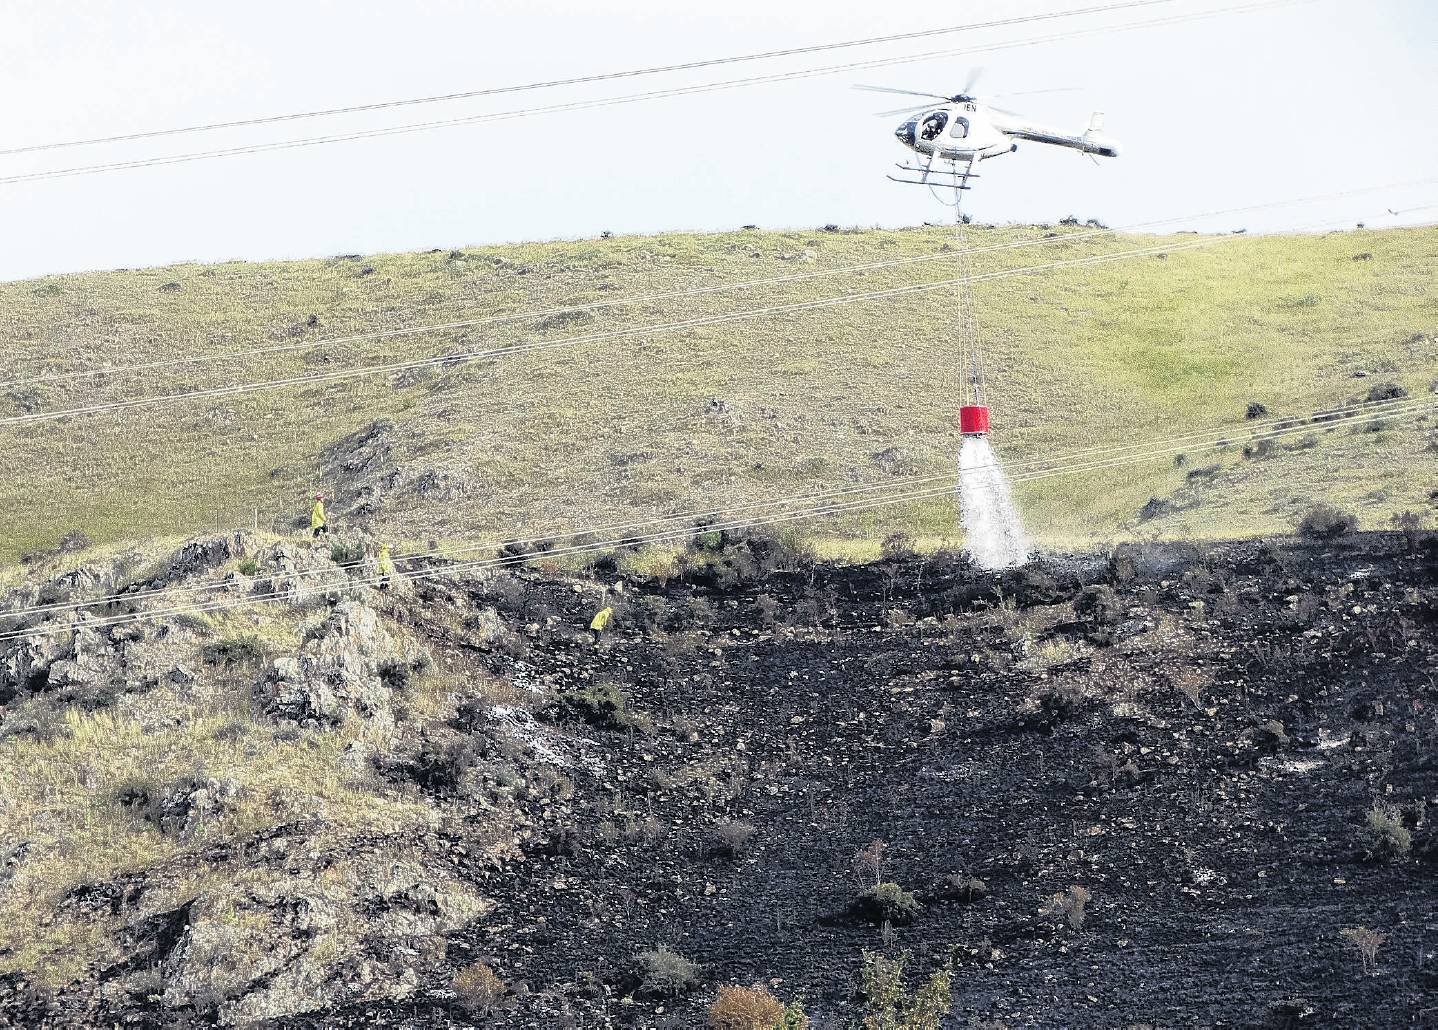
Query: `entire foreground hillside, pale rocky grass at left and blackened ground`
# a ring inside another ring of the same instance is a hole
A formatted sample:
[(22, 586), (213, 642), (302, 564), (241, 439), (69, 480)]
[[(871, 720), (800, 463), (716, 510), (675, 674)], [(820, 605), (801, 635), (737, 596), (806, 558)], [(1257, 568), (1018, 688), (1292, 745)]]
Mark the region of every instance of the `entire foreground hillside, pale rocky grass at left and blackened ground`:
[(686, 557), (598, 644), (610, 557), (32, 573), (252, 604), (0, 646), (0, 1023), (847, 1027), (874, 952), (953, 1026), (1432, 1024), (1438, 535)]

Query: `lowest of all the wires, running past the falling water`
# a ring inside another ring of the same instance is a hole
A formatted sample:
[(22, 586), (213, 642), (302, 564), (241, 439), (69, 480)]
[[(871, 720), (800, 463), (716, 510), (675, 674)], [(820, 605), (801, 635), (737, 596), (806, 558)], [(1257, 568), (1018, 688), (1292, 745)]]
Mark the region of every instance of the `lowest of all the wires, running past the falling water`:
[[(1418, 411), (1434, 410), (1435, 407), (1438, 407), (1438, 401), (1419, 401), (1419, 403), (1411, 404), (1412, 410), (1411, 411), (1405, 411), (1405, 413), (1406, 414), (1415, 414)], [(1357, 417), (1357, 419), (1350, 419), (1350, 420), (1346, 420), (1345, 424), (1347, 424), (1347, 426), (1357, 426), (1357, 424), (1366, 424), (1366, 423), (1376, 421), (1379, 419), (1389, 419), (1389, 417), (1393, 417), (1392, 411), (1385, 411), (1382, 414), (1373, 414), (1373, 416), (1363, 416), (1363, 417)], [(1265, 437), (1267, 439), (1278, 439), (1278, 437), (1288, 436), (1288, 434), (1293, 434), (1296, 432), (1307, 430), (1307, 429), (1311, 429), (1311, 427), (1306, 426), (1306, 424), (1300, 424), (1300, 426), (1294, 426), (1291, 429), (1276, 430), (1276, 432), (1267, 433)], [(1204, 447), (1219, 447), (1219, 446), (1225, 446), (1228, 442), (1229, 442), (1228, 437), (1221, 437), (1221, 439), (1214, 440), (1214, 442), (1211, 442), (1208, 445), (1202, 445), (1199, 449), (1204, 449)], [(1183, 449), (1183, 450), (1192, 450), (1195, 447), (1194, 447), (1194, 445), (1181, 445), (1181, 449)], [(1123, 466), (1129, 466), (1129, 465), (1136, 465), (1137, 462), (1150, 460), (1150, 459), (1162, 456), (1162, 455), (1175, 453), (1175, 450), (1178, 450), (1178, 447), (1158, 449), (1158, 450), (1150, 450), (1150, 452), (1140, 453), (1140, 455), (1129, 455), (1129, 456), (1123, 456), (1123, 457), (1119, 457), (1119, 459), (1112, 459), (1112, 460), (1107, 460), (1107, 462), (1090, 462), (1090, 463), (1084, 463), (1084, 465), (1080, 465), (1080, 466), (1047, 469), (1047, 470), (1040, 470), (1040, 472), (1028, 473), (1028, 475), (1024, 475), (1024, 476), (1017, 476), (1015, 480), (1017, 482), (1030, 482), (1030, 480), (1034, 480), (1034, 479), (1047, 479), (1047, 478), (1061, 476), (1061, 475), (1074, 475), (1077, 472), (1094, 472), (1094, 470), (1110, 469), (1110, 468), (1123, 468)], [(930, 499), (930, 498), (938, 498), (938, 496), (949, 495), (953, 491), (955, 483), (958, 482), (958, 476), (955, 476), (955, 475), (951, 473), (946, 478), (949, 480), (946, 485), (936, 486), (936, 488), (932, 488), (932, 489), (920, 489), (920, 491), (912, 491), (912, 492), (907, 492), (907, 493), (887, 495), (887, 496), (881, 496), (881, 498), (877, 498), (877, 499), (863, 499), (863, 501), (851, 501), (851, 502), (844, 502), (844, 503), (821, 505), (821, 506), (815, 506), (815, 508), (811, 508), (811, 509), (804, 509), (804, 511), (797, 511), (797, 512), (781, 512), (781, 514), (771, 515), (771, 516), (764, 516), (764, 518), (741, 519), (741, 521), (733, 521), (733, 522), (706, 524), (703, 527), (686, 525), (686, 527), (680, 527), (680, 528), (674, 528), (674, 529), (666, 529), (666, 531), (661, 531), (661, 532), (647, 534), (647, 535), (643, 535), (643, 537), (623, 537), (623, 538), (615, 538), (615, 539), (608, 539), (608, 541), (595, 541), (595, 542), (577, 544), (577, 545), (572, 545), (572, 547), (568, 547), (568, 548), (552, 548), (552, 550), (546, 550), (546, 551), (545, 550), (539, 550), (539, 551), (532, 551), (532, 552), (526, 552), (526, 554), (510, 554), (510, 555), (502, 555), (502, 557), (495, 557), (495, 558), (475, 560), (475, 561), (469, 561), (469, 562), (457, 562), (457, 564), (453, 564), (453, 565), (437, 567), (437, 568), (424, 570), (424, 571), (420, 571), (420, 573), (407, 573), (406, 578), (410, 580), (410, 581), (426, 581), (426, 580), (433, 580), (433, 578), (446, 578), (446, 577), (450, 577), (450, 575), (456, 575), (459, 573), (477, 571), (477, 570), (482, 570), (482, 568), (493, 568), (493, 567), (502, 567), (502, 565), (509, 565), (509, 564), (521, 564), (521, 562), (525, 562), (525, 561), (529, 561), (529, 560), (533, 560), (533, 558), (551, 558), (552, 560), (555, 557), (564, 557), (564, 555), (569, 555), (569, 554), (582, 554), (582, 552), (590, 552), (590, 551), (595, 551), (595, 550), (608, 550), (608, 548), (614, 548), (614, 547), (637, 547), (637, 545), (641, 545), (641, 544), (656, 544), (656, 542), (667, 542), (667, 541), (673, 541), (673, 539), (683, 539), (683, 538), (692, 537), (696, 531), (725, 531), (725, 529), (761, 528), (761, 527), (766, 527), (766, 525), (775, 525), (775, 524), (779, 524), (779, 522), (789, 522), (789, 521), (805, 519), (805, 518), (818, 518), (818, 516), (823, 516), (823, 515), (848, 514), (848, 512), (854, 512), (854, 511), (867, 511), (867, 509), (887, 506), (887, 505), (909, 503), (909, 502), (913, 502), (913, 501), (923, 501), (923, 499)], [(374, 585), (374, 584), (380, 583), (383, 578), (385, 578), (385, 577), (383, 577), (383, 575), (371, 575), (371, 577), (362, 577), (362, 578), (349, 578), (345, 583), (336, 583), (334, 585), (348, 585), (348, 587)], [(230, 598), (230, 600), (223, 600), (223, 601), (213, 601), (213, 603), (209, 603), (209, 604), (181, 606), (181, 607), (152, 610), (152, 611), (137, 611), (137, 613), (128, 613), (128, 614), (124, 614), (124, 616), (114, 616), (114, 617), (108, 617), (108, 619), (91, 619), (91, 620), (88, 620), (85, 623), (85, 626), (89, 627), (89, 629), (111, 629), (114, 626), (122, 626), (122, 624), (138, 623), (138, 621), (148, 621), (151, 619), (158, 619), (158, 617), (164, 617), (164, 616), (203, 614), (203, 613), (210, 613), (210, 611), (223, 611), (223, 610), (249, 607), (249, 606), (253, 606), (253, 604), (263, 604), (263, 603), (272, 601), (272, 600), (283, 600), (283, 598), (282, 597), (275, 597), (275, 596), (257, 596), (257, 597), (252, 596), (252, 597), (242, 597), (242, 598)], [(19, 639), (19, 637), (27, 637), (27, 636), (37, 636), (37, 634), (63, 633), (63, 632), (68, 632), (69, 629), (70, 629), (70, 626), (68, 626), (68, 624), (49, 624), (49, 623), (45, 623), (45, 624), (40, 624), (40, 626), (36, 626), (36, 627), (29, 627), (29, 629), (22, 629), (22, 630), (13, 630), (13, 632), (9, 632), (9, 633), (0, 633), (0, 640), (10, 640), (10, 639)]]

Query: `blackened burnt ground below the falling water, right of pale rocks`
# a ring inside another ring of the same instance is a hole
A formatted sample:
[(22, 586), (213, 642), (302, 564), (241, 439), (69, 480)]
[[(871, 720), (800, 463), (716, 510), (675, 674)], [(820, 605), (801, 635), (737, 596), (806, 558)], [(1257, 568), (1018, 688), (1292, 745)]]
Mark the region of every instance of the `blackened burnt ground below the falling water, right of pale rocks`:
[[(516, 689), (388, 774), (518, 810), (502, 859), (426, 844), (496, 908), (411, 998), (283, 1026), (696, 1027), (756, 981), (850, 1026), (866, 949), (952, 962), (955, 1027), (1438, 1026), (1438, 547), (1414, 544), (697, 571), (627, 584), (600, 646), (574, 580), (423, 587), (387, 614), (456, 682)], [(523, 643), (476, 643), (482, 606)], [(604, 682), (623, 709), (585, 712)], [(496, 722), (521, 706), (565, 767)], [(1362, 834), (1375, 803), (1408, 856)], [(754, 827), (738, 854), (725, 820)], [(874, 840), (909, 925), (848, 912)], [(1038, 913), (1076, 885), (1081, 929)], [(1386, 934), (1372, 974), (1359, 925)], [(636, 975), (659, 944), (700, 965), (679, 997)], [(509, 988), (485, 1016), (452, 990), (479, 960)]]

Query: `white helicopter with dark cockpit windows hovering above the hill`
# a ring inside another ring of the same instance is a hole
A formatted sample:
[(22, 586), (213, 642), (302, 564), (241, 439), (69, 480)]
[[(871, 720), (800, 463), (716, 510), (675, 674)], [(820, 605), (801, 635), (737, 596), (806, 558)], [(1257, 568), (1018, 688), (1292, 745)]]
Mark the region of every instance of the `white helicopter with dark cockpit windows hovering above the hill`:
[[(1051, 147), (1067, 147), (1080, 154), (1094, 157), (1117, 157), (1119, 142), (1102, 135), (1103, 114), (1096, 112), (1081, 135), (1068, 135), (1045, 125), (1037, 125), (1021, 115), (994, 106), (974, 95), (978, 73), (971, 76), (963, 92), (953, 96), (922, 94), (913, 89), (892, 89), (889, 86), (856, 86), (877, 94), (900, 94), (925, 96), (940, 104), (920, 108), (899, 108), (881, 111), (880, 117), (909, 115), (894, 135), (905, 147), (928, 158), (922, 165), (900, 164), (899, 170), (917, 174), (917, 178), (890, 176), (896, 183), (913, 186), (953, 186), (968, 190), (969, 180), (978, 178), (979, 161), (1018, 150), (1018, 141), (1045, 142)], [(1054, 92), (1054, 91), (1035, 91)], [(948, 168), (940, 165), (948, 164)]]

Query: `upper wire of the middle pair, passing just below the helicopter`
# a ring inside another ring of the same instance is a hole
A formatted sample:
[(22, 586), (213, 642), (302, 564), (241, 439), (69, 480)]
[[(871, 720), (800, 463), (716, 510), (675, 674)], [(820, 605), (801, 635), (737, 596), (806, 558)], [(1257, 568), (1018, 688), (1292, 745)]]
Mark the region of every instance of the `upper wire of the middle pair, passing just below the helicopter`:
[[(495, 324), (503, 324), (503, 322), (518, 322), (518, 321), (529, 321), (529, 319), (539, 319), (539, 318), (552, 318), (552, 316), (557, 316), (557, 315), (562, 316), (562, 315), (572, 315), (572, 314), (580, 314), (580, 312), (604, 311), (604, 309), (610, 309), (610, 308), (633, 306), (633, 305), (641, 305), (641, 304), (659, 304), (659, 302), (663, 302), (663, 301), (674, 301), (674, 299), (683, 299), (683, 298), (692, 298), (692, 296), (705, 296), (705, 295), (710, 295), (710, 293), (725, 293), (725, 292), (739, 291), (739, 289), (754, 289), (754, 288), (759, 288), (759, 286), (775, 286), (775, 285), (785, 285), (785, 283), (791, 283), (791, 282), (805, 282), (805, 281), (810, 281), (810, 279), (821, 279), (821, 278), (830, 278), (830, 276), (838, 276), (838, 275), (854, 275), (854, 273), (860, 273), (860, 272), (876, 272), (876, 270), (884, 270), (884, 269), (890, 269), (890, 268), (905, 268), (905, 266), (922, 265), (922, 263), (929, 263), (929, 262), (945, 262), (945, 260), (953, 260), (953, 259), (956, 259), (958, 256), (961, 256), (963, 253), (968, 253), (968, 255), (984, 255), (984, 253), (997, 253), (997, 252), (1002, 252), (1002, 250), (1018, 250), (1018, 249), (1027, 249), (1027, 247), (1035, 247), (1035, 246), (1057, 246), (1057, 245), (1063, 245), (1063, 243), (1070, 243), (1073, 240), (1084, 240), (1084, 239), (1091, 239), (1091, 237), (1097, 237), (1097, 236), (1109, 237), (1109, 236), (1114, 236), (1117, 233), (1135, 232), (1135, 230), (1140, 230), (1140, 229), (1153, 229), (1156, 226), (1166, 226), (1166, 224), (1173, 224), (1173, 223), (1188, 223), (1188, 222), (1195, 222), (1195, 220), (1201, 220), (1201, 219), (1214, 219), (1214, 217), (1219, 217), (1219, 216), (1250, 214), (1252, 211), (1260, 211), (1260, 210), (1271, 210), (1271, 209), (1277, 209), (1277, 207), (1293, 207), (1293, 206), (1310, 204), (1310, 203), (1324, 201), (1324, 200), (1340, 200), (1340, 199), (1345, 199), (1345, 197), (1355, 197), (1355, 196), (1362, 196), (1362, 194), (1368, 194), (1368, 193), (1379, 193), (1379, 191), (1385, 191), (1385, 190), (1389, 190), (1389, 191), (1391, 190), (1406, 190), (1406, 188), (1411, 188), (1411, 187), (1415, 187), (1415, 186), (1432, 186), (1435, 183), (1438, 183), (1438, 177), (1421, 178), (1421, 180), (1406, 180), (1406, 181), (1399, 181), (1399, 183), (1388, 183), (1388, 184), (1383, 184), (1383, 186), (1368, 186), (1368, 187), (1360, 187), (1360, 188), (1355, 188), (1355, 190), (1340, 190), (1340, 191), (1334, 191), (1334, 193), (1310, 194), (1310, 196), (1306, 196), (1306, 197), (1294, 197), (1294, 199), (1288, 199), (1288, 200), (1265, 201), (1265, 203), (1261, 203), (1261, 204), (1245, 204), (1242, 207), (1227, 207), (1227, 209), (1218, 209), (1218, 210), (1209, 210), (1209, 211), (1196, 211), (1196, 213), (1182, 214), (1182, 216), (1175, 216), (1175, 217), (1168, 217), (1168, 219), (1150, 219), (1150, 220), (1146, 220), (1146, 222), (1133, 222), (1133, 223), (1123, 224), (1123, 226), (1114, 226), (1112, 229), (1110, 227), (1086, 229), (1086, 230), (1081, 230), (1081, 232), (1077, 232), (1077, 233), (1064, 233), (1064, 234), (1051, 236), (1051, 237), (1034, 237), (1034, 239), (1025, 239), (1025, 240), (1014, 240), (1014, 242), (1009, 242), (1009, 243), (998, 243), (998, 245), (985, 246), (985, 247), (969, 247), (968, 250), (959, 250), (959, 252), (948, 250), (948, 252), (936, 252), (936, 253), (926, 253), (926, 255), (915, 255), (915, 256), (909, 256), (909, 258), (893, 258), (893, 259), (879, 260), (879, 262), (863, 262), (863, 263), (858, 263), (858, 265), (846, 265), (846, 266), (833, 268), (833, 269), (815, 269), (812, 272), (794, 272), (794, 273), (782, 275), (782, 276), (769, 276), (769, 278), (762, 278), (762, 279), (745, 279), (745, 281), (741, 281), (741, 282), (732, 282), (732, 283), (716, 283), (713, 286), (692, 286), (692, 288), (687, 288), (687, 289), (669, 291), (669, 292), (663, 292), (663, 293), (647, 293), (647, 295), (638, 295), (638, 296), (630, 296), (630, 298), (614, 298), (614, 299), (608, 299), (608, 301), (597, 301), (594, 304), (568, 305), (568, 306), (561, 306), (561, 308), (546, 308), (546, 309), (538, 309), (538, 311), (506, 312), (506, 314), (500, 314), (500, 315), (483, 315), (483, 316), (476, 316), (476, 318), (464, 318), (464, 319), (456, 319), (456, 321), (450, 321), (450, 322), (437, 322), (437, 324), (426, 324), (426, 325), (406, 325), (406, 327), (391, 327), (391, 328), (381, 328), (381, 329), (370, 329), (370, 331), (352, 332), (352, 334), (347, 334), (347, 335), (341, 335), (341, 337), (324, 337), (324, 338), (319, 338), (319, 339), (309, 339), (309, 341), (299, 342), (299, 344), (280, 344), (280, 345), (276, 345), (276, 347), (262, 347), (262, 348), (253, 348), (253, 350), (246, 350), (246, 351), (224, 351), (224, 352), (219, 352), (219, 354), (196, 354), (196, 355), (186, 355), (186, 357), (178, 357), (178, 358), (161, 358), (161, 360), (155, 360), (155, 361), (141, 361), (141, 363), (134, 363), (134, 364), (128, 364), (128, 365), (102, 365), (102, 367), (98, 367), (98, 368), (79, 368), (79, 370), (63, 371), (63, 373), (46, 373), (46, 374), (42, 374), (42, 375), (30, 375), (30, 377), (26, 377), (26, 378), (3, 380), (3, 381), (0, 381), (0, 388), (4, 388), (4, 387), (22, 387), (22, 386), (36, 386), (36, 384), (40, 384), (40, 383), (59, 383), (59, 381), (68, 381), (68, 380), (76, 380), (76, 378), (89, 378), (89, 377), (98, 377), (98, 375), (118, 375), (118, 374), (122, 374), (122, 373), (154, 371), (154, 370), (158, 370), (158, 368), (174, 368), (174, 367), (178, 367), (178, 365), (204, 364), (204, 363), (210, 363), (210, 361), (240, 361), (240, 360), (249, 360), (249, 358), (257, 358), (257, 357), (269, 357), (269, 355), (273, 355), (273, 354), (295, 354), (295, 352), (303, 352), (303, 351), (311, 351), (311, 350), (318, 350), (318, 348), (335, 348), (335, 347), (341, 347), (341, 345), (345, 345), (345, 344), (368, 342), (368, 341), (375, 341), (375, 339), (394, 339), (394, 338), (401, 338), (401, 337), (423, 335), (423, 334), (429, 334), (429, 332), (447, 332), (447, 331), (452, 331), (452, 329), (475, 328), (475, 327), (479, 327), (479, 325), (495, 325)], [(1412, 209), (1405, 209), (1403, 213), (1405, 214), (1411, 214), (1414, 211), (1421, 211), (1421, 210), (1425, 210), (1425, 209), (1424, 207), (1412, 207)]]

